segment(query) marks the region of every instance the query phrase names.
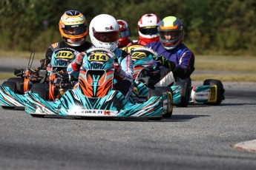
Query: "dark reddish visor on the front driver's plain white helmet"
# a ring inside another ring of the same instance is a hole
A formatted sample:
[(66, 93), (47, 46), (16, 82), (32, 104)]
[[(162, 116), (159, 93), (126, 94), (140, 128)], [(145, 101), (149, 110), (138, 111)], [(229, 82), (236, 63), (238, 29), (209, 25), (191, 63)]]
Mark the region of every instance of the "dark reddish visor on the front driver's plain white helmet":
[(93, 30), (93, 36), (102, 42), (114, 42), (119, 39), (119, 31), (111, 31), (111, 32), (96, 32)]

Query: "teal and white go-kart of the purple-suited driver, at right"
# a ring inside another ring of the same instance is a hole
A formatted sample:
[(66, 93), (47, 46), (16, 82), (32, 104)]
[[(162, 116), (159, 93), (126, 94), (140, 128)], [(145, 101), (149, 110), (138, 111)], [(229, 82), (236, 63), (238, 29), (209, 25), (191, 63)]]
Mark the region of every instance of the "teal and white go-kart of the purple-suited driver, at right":
[[(134, 81), (137, 83), (139, 95), (146, 95), (148, 89), (157, 89), (161, 92), (171, 92), (174, 106), (186, 107), (189, 103), (204, 103), (219, 105), (224, 100), (223, 84), (221, 81), (206, 79), (203, 85), (191, 86), (191, 80), (176, 80), (172, 72), (166, 72), (158, 82), (152, 80), (157, 69), (153, 66), (153, 59), (157, 52), (145, 47), (130, 47), (131, 58), (134, 61)], [(153, 73), (153, 74), (152, 74)], [(160, 77), (160, 74), (157, 76)], [(152, 85), (152, 81), (154, 85)], [(170, 90), (171, 89), (171, 90)]]

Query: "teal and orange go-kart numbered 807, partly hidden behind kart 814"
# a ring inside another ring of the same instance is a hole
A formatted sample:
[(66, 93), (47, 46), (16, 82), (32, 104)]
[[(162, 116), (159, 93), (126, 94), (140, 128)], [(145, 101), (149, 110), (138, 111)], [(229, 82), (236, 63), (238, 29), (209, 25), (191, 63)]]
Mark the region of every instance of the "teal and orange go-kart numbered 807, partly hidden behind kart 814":
[[(62, 48), (53, 52), (50, 67), (47, 69), (31, 69), (33, 60), (27, 69), (15, 69), (15, 75), (21, 78), (9, 78), (0, 87), (0, 105), (4, 109), (24, 107), (29, 90), (44, 94), (44, 98), (53, 100), (59, 98), (67, 89), (72, 88), (70, 76), (66, 73), (66, 67), (75, 58), (76, 50)], [(31, 58), (31, 56), (30, 56)]]

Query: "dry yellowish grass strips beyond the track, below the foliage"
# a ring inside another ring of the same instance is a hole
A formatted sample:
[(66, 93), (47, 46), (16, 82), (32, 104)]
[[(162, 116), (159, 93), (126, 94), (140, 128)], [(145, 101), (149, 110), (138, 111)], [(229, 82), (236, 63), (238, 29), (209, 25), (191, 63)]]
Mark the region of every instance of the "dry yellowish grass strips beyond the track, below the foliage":
[[(6, 52), (0, 50), (0, 58), (30, 58), (31, 52)], [(45, 58), (44, 52), (36, 52), (35, 59)], [(256, 56), (219, 56), (196, 55), (196, 71), (191, 75), (192, 81), (203, 81), (208, 78), (220, 81), (256, 82)], [(196, 73), (198, 71), (204, 71)], [(1, 73), (0, 79), (15, 77), (13, 73)]]

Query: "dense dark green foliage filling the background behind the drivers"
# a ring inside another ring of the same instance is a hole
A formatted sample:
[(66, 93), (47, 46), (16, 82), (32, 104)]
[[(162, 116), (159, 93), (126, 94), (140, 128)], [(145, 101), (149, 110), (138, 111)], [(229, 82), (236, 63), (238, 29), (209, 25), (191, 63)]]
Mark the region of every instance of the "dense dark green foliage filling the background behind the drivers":
[(255, 0), (1, 0), (0, 5), (0, 50), (44, 52), (61, 40), (58, 24), (65, 10), (79, 10), (88, 23), (101, 13), (128, 21), (134, 39), (145, 13), (177, 16), (185, 27), (184, 43), (196, 54), (256, 55)]

